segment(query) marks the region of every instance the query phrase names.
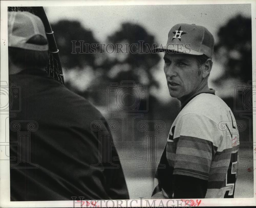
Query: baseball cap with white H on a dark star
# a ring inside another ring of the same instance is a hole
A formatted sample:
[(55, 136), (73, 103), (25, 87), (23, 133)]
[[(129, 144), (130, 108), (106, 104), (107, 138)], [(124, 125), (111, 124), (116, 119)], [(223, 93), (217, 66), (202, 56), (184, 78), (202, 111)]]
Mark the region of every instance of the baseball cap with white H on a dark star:
[(158, 52), (187, 53), (203, 55), (212, 59), (214, 37), (203, 26), (195, 24), (177, 24), (168, 33), (166, 46), (156, 48)]

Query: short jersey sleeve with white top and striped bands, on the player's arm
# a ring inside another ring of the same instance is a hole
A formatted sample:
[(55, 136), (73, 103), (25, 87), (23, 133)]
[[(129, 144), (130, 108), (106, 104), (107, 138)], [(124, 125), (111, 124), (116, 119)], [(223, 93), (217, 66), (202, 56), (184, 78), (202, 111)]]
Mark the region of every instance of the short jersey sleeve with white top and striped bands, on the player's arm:
[(199, 114), (185, 114), (176, 124), (173, 174), (208, 180), (212, 158), (220, 141), (218, 125)]

